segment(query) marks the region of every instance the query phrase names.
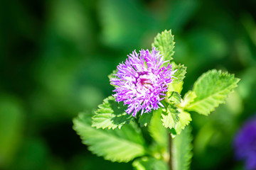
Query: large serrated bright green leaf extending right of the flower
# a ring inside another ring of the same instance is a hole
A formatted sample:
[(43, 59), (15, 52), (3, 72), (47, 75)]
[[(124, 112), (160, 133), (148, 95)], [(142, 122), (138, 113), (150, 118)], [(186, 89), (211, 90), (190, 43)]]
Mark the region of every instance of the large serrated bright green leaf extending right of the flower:
[(185, 109), (208, 115), (220, 103), (225, 103), (228, 94), (238, 86), (238, 81), (240, 79), (228, 72), (215, 69), (206, 72), (194, 84), (193, 92), (195, 92), (196, 98)]

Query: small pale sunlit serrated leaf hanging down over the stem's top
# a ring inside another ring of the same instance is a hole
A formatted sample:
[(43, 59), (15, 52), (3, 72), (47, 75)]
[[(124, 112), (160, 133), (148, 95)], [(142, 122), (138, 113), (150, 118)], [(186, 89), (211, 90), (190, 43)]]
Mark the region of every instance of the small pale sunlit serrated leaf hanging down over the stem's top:
[(179, 120), (178, 114), (178, 108), (174, 104), (169, 104), (167, 108), (164, 108), (163, 113), (161, 113), (161, 121), (163, 122), (164, 128), (175, 128)]

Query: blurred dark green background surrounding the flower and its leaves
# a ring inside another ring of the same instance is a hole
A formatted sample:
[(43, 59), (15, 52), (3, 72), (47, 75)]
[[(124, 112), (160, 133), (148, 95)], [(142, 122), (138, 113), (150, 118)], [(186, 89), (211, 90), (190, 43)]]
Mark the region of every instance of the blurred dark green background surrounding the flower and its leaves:
[(193, 114), (191, 169), (242, 169), (232, 140), (256, 113), (256, 1), (0, 2), (0, 169), (132, 169), (87, 151), (72, 119), (112, 94), (107, 75), (154, 36), (175, 35), (183, 93), (208, 69), (242, 79), (209, 117)]

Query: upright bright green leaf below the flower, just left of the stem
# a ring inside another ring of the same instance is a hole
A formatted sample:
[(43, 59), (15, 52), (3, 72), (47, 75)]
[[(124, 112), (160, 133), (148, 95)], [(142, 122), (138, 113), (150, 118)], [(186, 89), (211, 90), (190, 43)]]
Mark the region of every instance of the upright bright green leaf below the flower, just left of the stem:
[(168, 133), (161, 122), (161, 113), (161, 109), (153, 112), (151, 123), (149, 124), (149, 134), (159, 147), (166, 150), (168, 147)]

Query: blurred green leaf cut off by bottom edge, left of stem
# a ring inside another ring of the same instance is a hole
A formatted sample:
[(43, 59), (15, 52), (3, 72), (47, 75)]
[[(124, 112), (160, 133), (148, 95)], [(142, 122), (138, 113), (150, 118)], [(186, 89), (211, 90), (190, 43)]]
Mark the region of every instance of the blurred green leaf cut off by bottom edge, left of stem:
[(142, 157), (132, 162), (132, 166), (137, 170), (168, 170), (168, 165), (163, 160), (153, 157)]

